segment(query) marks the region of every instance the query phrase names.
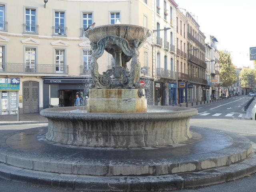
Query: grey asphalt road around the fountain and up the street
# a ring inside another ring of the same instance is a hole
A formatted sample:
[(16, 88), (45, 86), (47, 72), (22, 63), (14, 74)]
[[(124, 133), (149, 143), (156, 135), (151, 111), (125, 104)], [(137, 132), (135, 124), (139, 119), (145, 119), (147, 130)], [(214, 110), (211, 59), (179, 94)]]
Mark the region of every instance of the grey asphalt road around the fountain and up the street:
[[(190, 125), (215, 128), (235, 132), (246, 136), (252, 142), (256, 143), (256, 121), (244, 120), (242, 117), (238, 118), (235, 115), (244, 114), (243, 105), (249, 97), (234, 97), (221, 102), (214, 102), (198, 107), (198, 115), (190, 120)], [(196, 108), (196, 107), (195, 107)], [(206, 112), (205, 112), (206, 111)], [(204, 113), (223, 115), (212, 116), (200, 115)], [(225, 116), (224, 114), (233, 114), (233, 116)], [(234, 116), (236, 118), (234, 118)], [(239, 115), (238, 115), (239, 116)], [(18, 130), (33, 127), (46, 126), (46, 124), (21, 124), (21, 125), (3, 125), (0, 130)], [(74, 190), (64, 190), (55, 188), (46, 188), (40, 186), (33, 186), (20, 182), (13, 182), (0, 179), (0, 192), (71, 192)], [(207, 186), (202, 188), (193, 188), (186, 190), (173, 190), (171, 192), (255, 192), (256, 191), (256, 174), (252, 174), (246, 178), (242, 178), (233, 182), (218, 184), (214, 186)], [(76, 192), (82, 192), (76, 190)]]

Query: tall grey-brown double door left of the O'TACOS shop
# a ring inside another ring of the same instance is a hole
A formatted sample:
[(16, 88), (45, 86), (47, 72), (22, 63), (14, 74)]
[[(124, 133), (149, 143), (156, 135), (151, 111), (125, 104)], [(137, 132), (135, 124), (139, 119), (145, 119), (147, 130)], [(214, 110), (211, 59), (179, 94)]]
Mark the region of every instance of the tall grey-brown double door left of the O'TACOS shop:
[(39, 83), (23, 82), (23, 113), (39, 113)]

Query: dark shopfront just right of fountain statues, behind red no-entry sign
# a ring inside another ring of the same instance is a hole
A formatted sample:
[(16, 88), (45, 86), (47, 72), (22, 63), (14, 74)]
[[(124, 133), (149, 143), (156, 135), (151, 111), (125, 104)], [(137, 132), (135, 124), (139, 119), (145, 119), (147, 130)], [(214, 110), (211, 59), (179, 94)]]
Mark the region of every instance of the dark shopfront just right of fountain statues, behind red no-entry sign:
[(154, 79), (140, 78), (140, 85), (145, 90), (148, 105), (154, 105)]

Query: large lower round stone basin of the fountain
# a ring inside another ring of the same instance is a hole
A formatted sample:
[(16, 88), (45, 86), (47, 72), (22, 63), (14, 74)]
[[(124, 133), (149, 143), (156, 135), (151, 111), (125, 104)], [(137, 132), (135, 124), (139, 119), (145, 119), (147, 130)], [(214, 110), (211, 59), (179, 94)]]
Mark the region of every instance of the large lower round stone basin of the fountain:
[(143, 113), (87, 113), (86, 106), (47, 108), (46, 138), (88, 147), (138, 148), (168, 146), (191, 138), (194, 108), (148, 106)]

